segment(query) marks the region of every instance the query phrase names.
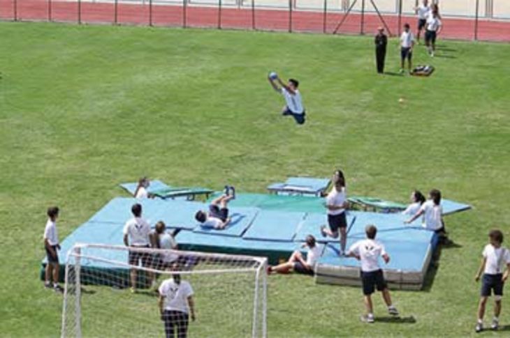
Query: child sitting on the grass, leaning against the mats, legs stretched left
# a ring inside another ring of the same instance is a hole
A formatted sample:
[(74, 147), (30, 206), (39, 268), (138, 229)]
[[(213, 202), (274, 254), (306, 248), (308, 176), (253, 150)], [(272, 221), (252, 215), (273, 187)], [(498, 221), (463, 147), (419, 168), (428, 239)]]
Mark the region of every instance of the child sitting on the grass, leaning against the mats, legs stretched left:
[(296, 250), (286, 263), (279, 264), (278, 266), (268, 266), (268, 275), (272, 272), (287, 273), (291, 270), (305, 275), (313, 275), (315, 263), (319, 256), (321, 256), (321, 249), (316, 245), (315, 238), (312, 235), (307, 236), (303, 247), (308, 247), (306, 261), (303, 258), (303, 254)]

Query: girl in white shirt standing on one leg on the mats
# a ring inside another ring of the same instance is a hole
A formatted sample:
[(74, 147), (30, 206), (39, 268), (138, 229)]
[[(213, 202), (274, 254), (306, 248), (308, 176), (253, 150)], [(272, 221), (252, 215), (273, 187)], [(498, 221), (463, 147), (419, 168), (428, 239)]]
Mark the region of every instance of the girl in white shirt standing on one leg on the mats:
[(347, 191), (345, 188), (345, 177), (341, 170), (335, 171), (333, 176), (333, 189), (326, 197), (326, 213), (328, 214), (328, 225), (321, 226), (323, 237), (338, 238), (340, 232), (340, 254), (344, 254), (347, 243), (347, 217), (345, 210), (349, 206)]

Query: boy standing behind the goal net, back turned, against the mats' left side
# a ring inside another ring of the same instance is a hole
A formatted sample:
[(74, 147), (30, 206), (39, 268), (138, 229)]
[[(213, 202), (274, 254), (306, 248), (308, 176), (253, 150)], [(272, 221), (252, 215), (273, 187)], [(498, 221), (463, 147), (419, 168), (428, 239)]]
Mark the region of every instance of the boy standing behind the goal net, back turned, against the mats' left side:
[[(146, 220), (142, 218), (142, 206), (139, 203), (133, 204), (131, 207), (131, 213), (133, 213), (133, 218), (126, 222), (124, 225), (124, 245), (126, 247), (150, 247), (150, 225)], [(144, 268), (151, 267), (151, 255), (148, 252), (140, 252), (138, 250), (129, 250), (129, 265), (130, 266), (138, 266), (140, 261), (142, 261), (142, 266)], [(136, 268), (131, 268), (131, 292), (136, 292), (136, 280), (137, 280), (137, 270)], [(147, 272), (147, 277), (149, 278), (149, 282), (154, 282), (152, 272)]]

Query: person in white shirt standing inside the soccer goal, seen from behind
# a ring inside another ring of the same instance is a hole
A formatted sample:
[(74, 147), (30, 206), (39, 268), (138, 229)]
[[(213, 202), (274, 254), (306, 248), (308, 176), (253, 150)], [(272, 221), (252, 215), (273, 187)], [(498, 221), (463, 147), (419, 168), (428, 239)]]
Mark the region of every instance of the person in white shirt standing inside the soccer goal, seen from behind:
[[(173, 271), (177, 271), (174, 266)], [(181, 280), (179, 274), (161, 283), (158, 289), (158, 307), (161, 321), (164, 323), (166, 338), (186, 338), (188, 334), (189, 316), (195, 321), (195, 303), (191, 284)]]

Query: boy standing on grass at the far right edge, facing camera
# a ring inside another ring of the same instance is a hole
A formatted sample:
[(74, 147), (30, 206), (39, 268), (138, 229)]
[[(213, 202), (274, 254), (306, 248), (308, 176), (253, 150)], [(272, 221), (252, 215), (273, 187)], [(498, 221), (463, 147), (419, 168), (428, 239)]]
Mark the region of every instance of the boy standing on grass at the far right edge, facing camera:
[[(478, 321), (475, 331), (483, 330), (483, 315), (486, 310), (487, 299), (491, 291), (494, 292), (494, 318), (490, 328), (497, 330), (500, 327), (501, 300), (503, 296), (504, 282), (507, 281), (510, 273), (510, 252), (502, 247), (503, 233), (500, 230), (492, 230), (489, 233), (489, 244), (483, 248), (480, 268), (474, 277), (478, 282), (483, 272), (481, 283), (481, 297), (478, 305)], [(502, 267), (507, 269), (504, 273)]]

